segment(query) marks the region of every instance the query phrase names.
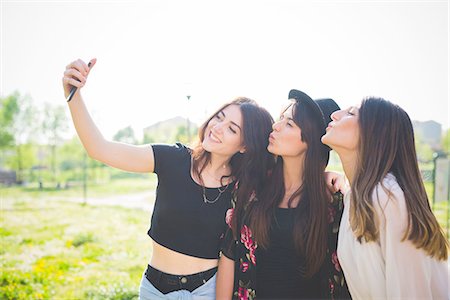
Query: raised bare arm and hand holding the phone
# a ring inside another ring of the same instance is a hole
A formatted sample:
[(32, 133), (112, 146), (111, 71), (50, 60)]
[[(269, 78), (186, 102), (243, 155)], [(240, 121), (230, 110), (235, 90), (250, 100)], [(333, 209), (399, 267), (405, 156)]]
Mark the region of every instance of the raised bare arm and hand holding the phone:
[(90, 157), (111, 167), (128, 172), (153, 172), (154, 155), (150, 145), (130, 145), (106, 140), (92, 120), (80, 93), (96, 59), (92, 59), (90, 63), (89, 68), (80, 59), (71, 62), (67, 65), (62, 80), (65, 97), (73, 86), (78, 88), (68, 104), (81, 143)]

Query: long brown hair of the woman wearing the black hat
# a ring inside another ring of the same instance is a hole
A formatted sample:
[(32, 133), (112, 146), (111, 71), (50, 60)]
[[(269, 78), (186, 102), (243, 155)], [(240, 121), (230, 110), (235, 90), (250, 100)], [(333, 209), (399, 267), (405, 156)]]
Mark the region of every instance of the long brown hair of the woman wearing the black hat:
[[(301, 136), (308, 147), (304, 161), (302, 186), (291, 196), (289, 203), (300, 197), (294, 208), (293, 240), (299, 256), (305, 257), (306, 265), (301, 271), (306, 277), (321, 267), (327, 251), (327, 211), (330, 195), (327, 192), (324, 171), (329, 159), (328, 148), (321, 143), (325, 134), (325, 122), (320, 109), (311, 103), (296, 101), (294, 122), (301, 128)], [(249, 209), (251, 226), (258, 245), (266, 248), (275, 209), (285, 195), (283, 159), (278, 157), (269, 178), (270, 182)]]

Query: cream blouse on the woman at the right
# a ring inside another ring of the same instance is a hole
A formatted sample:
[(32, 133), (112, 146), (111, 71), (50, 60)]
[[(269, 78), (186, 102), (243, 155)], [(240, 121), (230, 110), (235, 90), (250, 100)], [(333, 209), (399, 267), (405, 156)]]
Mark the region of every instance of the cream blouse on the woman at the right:
[(359, 243), (349, 221), (350, 192), (344, 198), (344, 212), (338, 237), (338, 258), (353, 299), (450, 299), (449, 263), (438, 261), (402, 242), (408, 225), (403, 191), (392, 174), (373, 194), (380, 226), (377, 242)]

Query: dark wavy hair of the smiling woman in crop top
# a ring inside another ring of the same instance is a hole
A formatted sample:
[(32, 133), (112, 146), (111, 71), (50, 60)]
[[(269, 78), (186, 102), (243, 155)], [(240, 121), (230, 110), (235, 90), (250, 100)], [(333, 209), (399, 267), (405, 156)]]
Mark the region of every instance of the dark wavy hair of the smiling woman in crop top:
[[(235, 191), (237, 199), (248, 199), (254, 190), (262, 189), (266, 174), (274, 164), (273, 155), (267, 151), (273, 118), (265, 108), (259, 106), (252, 99), (235, 98), (220, 107), (203, 123), (198, 133), (199, 140), (193, 149), (193, 172), (197, 178), (201, 178), (201, 172), (211, 161), (211, 153), (202, 147), (208, 123), (220, 111), (230, 105), (239, 106), (242, 113), (242, 135), (245, 152), (237, 152), (232, 156), (230, 160), (231, 174), (229, 176), (232, 176), (239, 183), (239, 188)], [(233, 218), (233, 222), (236, 222), (236, 219)]]

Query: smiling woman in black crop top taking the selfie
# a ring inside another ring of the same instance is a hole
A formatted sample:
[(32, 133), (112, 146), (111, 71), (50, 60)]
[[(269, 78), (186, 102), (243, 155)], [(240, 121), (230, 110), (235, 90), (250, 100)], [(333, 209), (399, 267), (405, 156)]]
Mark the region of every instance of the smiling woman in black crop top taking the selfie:
[[(273, 119), (248, 98), (217, 110), (199, 130), (199, 142), (184, 145), (129, 145), (106, 140), (91, 119), (79, 90), (90, 69), (77, 60), (63, 77), (72, 119), (89, 156), (129, 172), (158, 175), (155, 208), (148, 231), (153, 253), (140, 287), (141, 299), (177, 299), (190, 294), (215, 298), (219, 245), (227, 228), (231, 191), (248, 198), (262, 187), (274, 164), (266, 151)], [(242, 184), (245, 183), (245, 184)]]

